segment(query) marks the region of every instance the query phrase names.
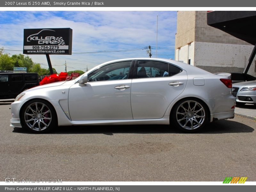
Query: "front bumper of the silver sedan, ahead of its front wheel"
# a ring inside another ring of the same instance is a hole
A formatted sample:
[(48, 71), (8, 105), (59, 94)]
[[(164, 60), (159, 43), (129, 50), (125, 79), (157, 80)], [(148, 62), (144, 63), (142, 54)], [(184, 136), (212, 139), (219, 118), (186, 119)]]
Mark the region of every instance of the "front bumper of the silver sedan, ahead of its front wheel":
[(20, 108), (21, 106), (27, 102), (28, 100), (20, 100), (20, 101), (15, 101), (11, 104), (11, 113), (12, 113), (12, 118), (11, 118), (11, 127), (21, 127), (20, 124)]

